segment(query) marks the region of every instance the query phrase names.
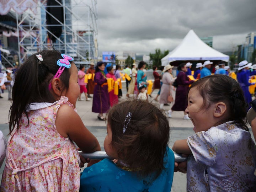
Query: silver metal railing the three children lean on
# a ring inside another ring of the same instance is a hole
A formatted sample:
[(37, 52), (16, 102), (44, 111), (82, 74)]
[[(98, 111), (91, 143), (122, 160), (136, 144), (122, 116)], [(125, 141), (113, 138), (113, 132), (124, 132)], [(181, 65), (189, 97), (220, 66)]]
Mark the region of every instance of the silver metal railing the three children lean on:
[[(80, 155), (82, 155), (85, 159), (89, 158), (89, 159), (111, 159), (105, 151), (95, 151), (94, 153), (83, 153), (82, 151), (78, 151), (78, 153)], [(178, 153), (174, 153), (174, 158), (175, 158), (175, 162), (183, 162), (183, 161), (187, 161), (186, 157), (182, 157), (181, 154)], [(113, 160), (113, 159), (111, 159)]]

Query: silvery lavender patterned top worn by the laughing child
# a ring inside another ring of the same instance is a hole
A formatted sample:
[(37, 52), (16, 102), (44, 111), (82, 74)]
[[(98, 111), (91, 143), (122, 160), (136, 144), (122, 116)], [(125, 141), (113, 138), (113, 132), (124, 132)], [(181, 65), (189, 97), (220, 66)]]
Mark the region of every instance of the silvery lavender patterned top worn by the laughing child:
[(253, 191), (256, 146), (232, 121), (188, 137), (187, 191)]

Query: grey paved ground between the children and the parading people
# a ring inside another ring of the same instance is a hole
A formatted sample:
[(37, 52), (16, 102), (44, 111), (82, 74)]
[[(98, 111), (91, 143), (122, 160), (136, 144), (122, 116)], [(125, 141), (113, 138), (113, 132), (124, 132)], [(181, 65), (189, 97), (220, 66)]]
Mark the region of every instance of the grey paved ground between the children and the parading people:
[[(124, 84), (123, 84), (123, 87)], [(153, 98), (157, 94), (158, 90), (155, 90), (152, 94)], [(126, 99), (126, 90), (123, 89), (123, 98)], [(7, 136), (9, 133), (8, 124), (8, 112), (11, 102), (8, 101), (7, 91), (4, 94), (1, 94), (4, 98), (0, 99), (0, 130)], [(83, 98), (83, 97), (82, 97)], [(149, 98), (150, 101), (155, 102), (153, 98)], [(97, 114), (91, 112), (92, 100), (91, 101), (77, 101), (76, 108), (77, 112), (80, 115), (85, 126), (95, 135), (95, 137), (100, 142), (100, 145), (103, 149), (103, 142), (106, 136), (106, 123), (97, 119)], [(170, 106), (164, 106), (164, 109), (167, 111), (170, 109)], [(183, 119), (183, 112), (173, 112), (172, 118), (169, 118), (170, 122), (170, 148), (174, 144), (175, 140), (185, 139), (189, 135), (193, 134), (193, 124), (190, 120)], [(0, 178), (2, 176), (2, 169), (0, 169)], [(174, 181), (171, 192), (183, 192), (186, 191), (186, 174), (175, 173)]]

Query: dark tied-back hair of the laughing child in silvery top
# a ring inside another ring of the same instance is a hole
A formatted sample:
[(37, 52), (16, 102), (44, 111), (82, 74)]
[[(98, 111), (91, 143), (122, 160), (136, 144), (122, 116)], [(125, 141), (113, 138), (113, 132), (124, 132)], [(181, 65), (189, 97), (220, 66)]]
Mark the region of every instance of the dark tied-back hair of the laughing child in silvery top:
[(227, 106), (229, 119), (245, 130), (248, 104), (238, 82), (227, 75), (209, 75), (195, 81), (190, 89), (196, 87), (203, 97), (203, 108), (207, 110), (212, 103), (224, 102)]

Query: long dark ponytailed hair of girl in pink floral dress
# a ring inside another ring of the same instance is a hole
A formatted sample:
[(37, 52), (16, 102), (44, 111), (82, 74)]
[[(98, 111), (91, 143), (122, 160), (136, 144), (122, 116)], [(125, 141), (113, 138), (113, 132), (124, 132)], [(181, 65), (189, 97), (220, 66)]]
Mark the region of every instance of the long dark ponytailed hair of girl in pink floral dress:
[[(38, 54), (42, 55), (42, 62), (36, 57)], [(9, 110), (10, 133), (15, 126), (17, 126), (17, 129), (19, 128), (19, 121), (23, 113), (28, 119), (28, 104), (33, 102), (53, 103), (56, 101), (48, 86), (59, 69), (57, 61), (62, 58), (61, 53), (56, 50), (42, 50), (31, 55), (17, 70), (12, 88), (12, 105)], [(65, 68), (59, 77), (63, 82), (63, 91), (69, 88), (69, 77), (69, 69)]]

